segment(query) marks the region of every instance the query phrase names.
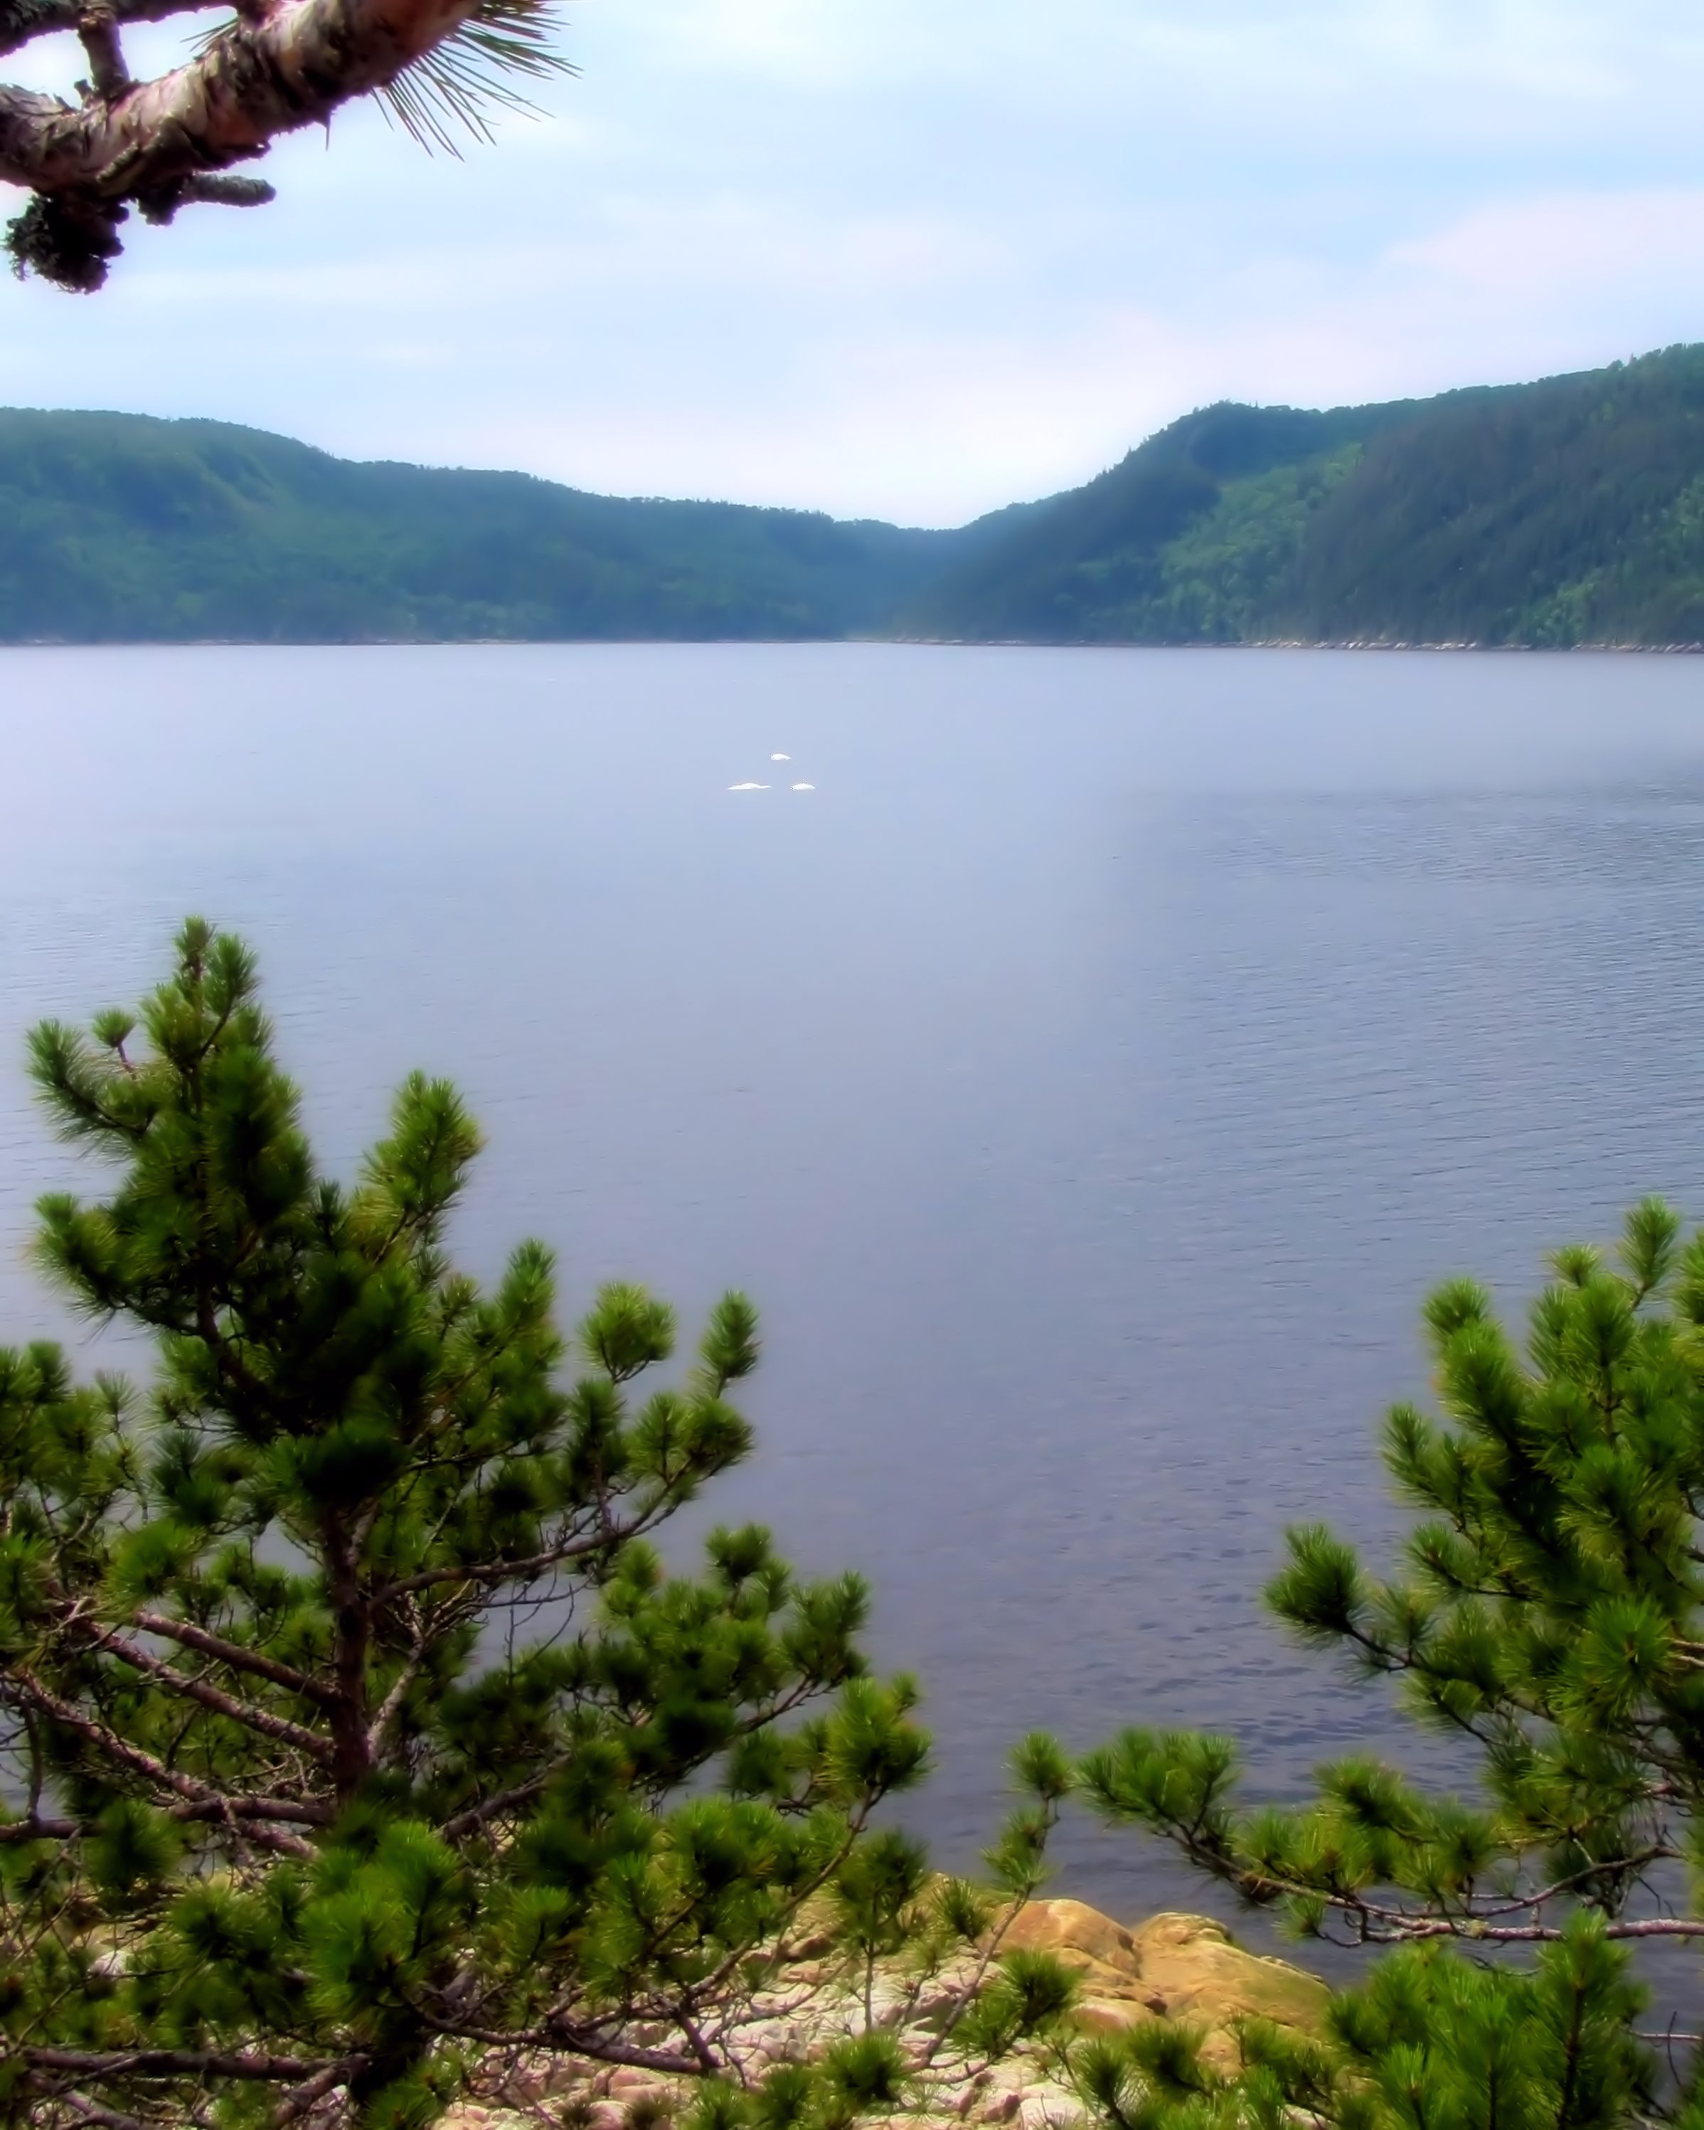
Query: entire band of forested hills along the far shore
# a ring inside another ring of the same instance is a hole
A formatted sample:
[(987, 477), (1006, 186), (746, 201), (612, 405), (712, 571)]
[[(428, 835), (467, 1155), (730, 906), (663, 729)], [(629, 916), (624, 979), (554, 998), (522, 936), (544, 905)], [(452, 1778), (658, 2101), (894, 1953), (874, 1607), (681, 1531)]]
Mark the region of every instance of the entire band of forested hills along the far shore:
[(1208, 407), (956, 532), (0, 409), (0, 641), (1704, 641), (1704, 347)]

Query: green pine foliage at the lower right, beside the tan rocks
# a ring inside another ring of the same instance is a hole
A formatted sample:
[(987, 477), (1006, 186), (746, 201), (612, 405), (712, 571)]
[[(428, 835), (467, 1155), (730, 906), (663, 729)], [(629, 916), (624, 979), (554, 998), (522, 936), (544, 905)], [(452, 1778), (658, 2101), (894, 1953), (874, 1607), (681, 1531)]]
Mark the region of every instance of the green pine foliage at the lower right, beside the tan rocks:
[(1425, 1323), (1440, 1410), (1384, 1429), (1416, 1512), (1402, 1570), (1308, 1527), (1267, 1595), (1461, 1740), (1478, 1796), (1348, 1759), (1274, 1808), (1242, 1802), (1227, 1738), (1093, 1753), (1108, 1819), (1304, 1934), (1387, 1949), (1323, 2049), (1252, 2034), (1227, 2070), (1157, 2030), (1084, 2051), (1110, 2130), (1704, 2126), (1698, 2036), (1640, 2038), (1629, 1966), (1704, 1938), (1704, 1235), (1649, 1199), (1612, 1261), (1559, 1250), (1525, 1348), (1472, 1280)]

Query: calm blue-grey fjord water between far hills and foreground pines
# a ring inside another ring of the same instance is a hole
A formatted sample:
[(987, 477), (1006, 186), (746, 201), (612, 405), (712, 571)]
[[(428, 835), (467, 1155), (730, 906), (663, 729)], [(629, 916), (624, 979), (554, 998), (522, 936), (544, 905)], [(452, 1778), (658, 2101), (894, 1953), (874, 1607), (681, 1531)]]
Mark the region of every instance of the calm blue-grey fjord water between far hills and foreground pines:
[[(1433, 1280), (1519, 1310), (1638, 1193), (1704, 1214), (1700, 660), (43, 650), (0, 684), (0, 1340), (66, 1329), (30, 1203), (94, 1184), (26, 1025), (134, 999), (187, 910), (241, 929), (328, 1165), (452, 1074), (477, 1269), (537, 1233), (569, 1310), (611, 1274), (688, 1325), (760, 1301), (760, 1451), (705, 1508), (869, 1574), (952, 1862), (1031, 1725), (1223, 1725), (1269, 1793), (1395, 1747), (1261, 1619), (1282, 1525), (1397, 1527), (1374, 1429)], [(1208, 1900), (1133, 1838), (1063, 1857), (1112, 1908)]]

